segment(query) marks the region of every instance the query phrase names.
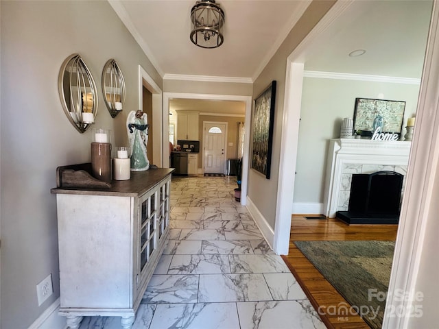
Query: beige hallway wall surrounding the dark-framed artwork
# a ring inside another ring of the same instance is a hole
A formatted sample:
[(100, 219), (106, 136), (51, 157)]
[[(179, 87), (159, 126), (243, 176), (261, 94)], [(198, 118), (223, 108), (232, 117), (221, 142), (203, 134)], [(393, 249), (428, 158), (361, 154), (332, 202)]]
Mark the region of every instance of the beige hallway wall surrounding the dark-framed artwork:
[[(285, 74), (287, 57), (307, 36), (322, 16), (331, 8), (335, 1), (313, 1), (300, 20), (289, 33), (281, 47), (274, 54), (270, 62), (253, 86), (253, 98), (257, 97), (272, 80), (276, 80), (276, 107), (274, 114), (274, 136), (272, 153), (272, 171), (270, 180), (264, 175), (250, 169), (248, 175), (248, 196), (257, 206), (263, 217), (274, 228), (276, 217), (276, 199), (279, 159), (281, 157), (281, 134), (283, 121), (283, 100), (285, 95)], [(251, 136), (251, 134), (250, 134)], [(261, 193), (264, 191), (264, 193)]]

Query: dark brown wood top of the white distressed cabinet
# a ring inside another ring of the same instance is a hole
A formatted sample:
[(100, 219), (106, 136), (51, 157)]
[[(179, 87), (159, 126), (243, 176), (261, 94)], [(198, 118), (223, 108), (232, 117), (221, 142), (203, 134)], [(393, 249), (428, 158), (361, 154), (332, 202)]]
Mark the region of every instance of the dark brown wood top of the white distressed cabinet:
[(137, 197), (167, 178), (174, 170), (174, 168), (158, 168), (146, 171), (131, 171), (130, 180), (112, 180), (110, 188), (56, 187), (51, 188), (50, 191), (54, 194)]

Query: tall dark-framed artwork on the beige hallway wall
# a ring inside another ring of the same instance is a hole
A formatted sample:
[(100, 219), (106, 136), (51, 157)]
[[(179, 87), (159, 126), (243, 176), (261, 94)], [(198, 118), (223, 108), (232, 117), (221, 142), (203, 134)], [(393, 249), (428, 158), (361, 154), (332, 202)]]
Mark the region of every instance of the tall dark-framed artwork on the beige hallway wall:
[(270, 179), (272, 162), (275, 100), (276, 81), (272, 81), (270, 86), (254, 99), (251, 167), (267, 179)]

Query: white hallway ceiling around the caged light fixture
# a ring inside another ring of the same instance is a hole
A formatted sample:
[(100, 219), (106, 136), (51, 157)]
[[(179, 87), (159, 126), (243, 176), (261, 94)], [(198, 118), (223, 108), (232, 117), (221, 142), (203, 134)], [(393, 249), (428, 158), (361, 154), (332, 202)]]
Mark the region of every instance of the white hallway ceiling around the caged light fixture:
[(218, 0), (224, 10), (224, 44), (193, 45), (195, 0), (109, 0), (159, 73), (247, 77), (259, 74), (309, 1)]

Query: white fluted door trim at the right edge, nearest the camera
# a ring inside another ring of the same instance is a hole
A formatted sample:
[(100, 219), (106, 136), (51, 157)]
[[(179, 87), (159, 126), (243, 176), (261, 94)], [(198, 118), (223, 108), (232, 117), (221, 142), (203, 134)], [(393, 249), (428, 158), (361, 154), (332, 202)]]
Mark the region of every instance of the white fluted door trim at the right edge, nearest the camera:
[[(438, 21), (439, 3), (434, 1), (416, 110), (416, 125), (383, 319), (382, 328), (386, 329), (409, 328), (410, 321), (414, 319), (409, 316), (395, 316), (394, 312), (388, 310), (411, 310), (414, 304), (419, 303), (414, 298), (412, 300), (401, 298), (401, 291), (405, 295), (409, 292), (416, 292), (420, 261), (423, 258), (423, 252), (428, 252), (423, 249), (428, 221), (436, 220), (436, 212), (431, 213), (431, 209), (436, 208), (438, 191), (437, 188), (434, 191), (434, 185), (435, 177), (437, 178), (439, 173)], [(424, 293), (427, 292), (424, 291)], [(403, 314), (407, 315), (407, 313)], [(429, 319), (433, 317), (434, 315), (429, 315)]]

